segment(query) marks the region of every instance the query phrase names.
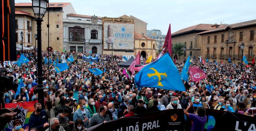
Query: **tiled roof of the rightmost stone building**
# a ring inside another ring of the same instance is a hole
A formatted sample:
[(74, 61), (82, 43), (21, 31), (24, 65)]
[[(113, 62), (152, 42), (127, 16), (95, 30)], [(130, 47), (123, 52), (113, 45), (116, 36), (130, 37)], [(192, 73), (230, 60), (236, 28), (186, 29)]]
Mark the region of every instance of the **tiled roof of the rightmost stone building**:
[(228, 28), (235, 29), (235, 28), (242, 28), (242, 27), (247, 27), (247, 26), (252, 26), (252, 25), (256, 25), (256, 20), (249, 20), (249, 21), (246, 21), (246, 22), (240, 22), (240, 23), (231, 24), (231, 25), (221, 25), (219, 28), (216, 28), (216, 29), (213, 29), (213, 30), (207, 30), (207, 31), (204, 31), (204, 32), (200, 32), (198, 34), (199, 35), (210, 34), (210, 33), (213, 33), (213, 32), (220, 32), (220, 31), (226, 30)]

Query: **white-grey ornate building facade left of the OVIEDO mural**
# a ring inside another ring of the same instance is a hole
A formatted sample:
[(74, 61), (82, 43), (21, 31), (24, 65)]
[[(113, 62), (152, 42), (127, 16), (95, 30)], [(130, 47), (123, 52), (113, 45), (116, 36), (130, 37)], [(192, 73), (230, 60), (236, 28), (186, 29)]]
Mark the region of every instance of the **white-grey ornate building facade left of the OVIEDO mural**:
[(67, 14), (63, 19), (63, 49), (102, 54), (102, 17)]

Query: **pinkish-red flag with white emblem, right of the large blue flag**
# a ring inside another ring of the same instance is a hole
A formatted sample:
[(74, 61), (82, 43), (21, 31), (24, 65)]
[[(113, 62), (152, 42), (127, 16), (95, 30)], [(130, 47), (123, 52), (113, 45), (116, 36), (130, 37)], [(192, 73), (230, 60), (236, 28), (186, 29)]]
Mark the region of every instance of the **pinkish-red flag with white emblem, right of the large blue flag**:
[(189, 75), (191, 78), (191, 81), (200, 81), (201, 79), (204, 79), (207, 77), (207, 75), (199, 69), (198, 67), (189, 67)]

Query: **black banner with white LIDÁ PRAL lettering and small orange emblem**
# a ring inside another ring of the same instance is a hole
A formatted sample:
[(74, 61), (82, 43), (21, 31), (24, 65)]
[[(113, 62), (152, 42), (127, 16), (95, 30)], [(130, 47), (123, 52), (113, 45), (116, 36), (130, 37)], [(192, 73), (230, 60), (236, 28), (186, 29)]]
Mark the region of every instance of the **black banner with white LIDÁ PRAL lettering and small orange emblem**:
[(98, 124), (87, 131), (184, 131), (183, 109), (140, 114)]

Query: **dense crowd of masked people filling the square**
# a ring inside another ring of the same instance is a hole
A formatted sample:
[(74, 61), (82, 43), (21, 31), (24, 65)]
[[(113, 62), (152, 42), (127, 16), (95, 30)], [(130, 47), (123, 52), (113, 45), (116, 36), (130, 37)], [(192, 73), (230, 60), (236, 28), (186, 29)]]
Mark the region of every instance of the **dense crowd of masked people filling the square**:
[[(16, 97), (13, 90), (6, 91), (5, 103), (38, 100), (37, 55), (35, 50), (23, 51), (30, 60), (28, 64), (22, 64), (21, 67), (7, 66), (3, 69), (8, 71), (7, 76), (14, 78), (14, 82), (23, 82), (25, 87), (21, 88), (20, 95)], [(17, 57), (20, 54), (21, 52), (17, 51)], [(67, 59), (69, 55), (76, 53), (50, 52), (48, 56), (48, 52), (42, 52), (43, 57), (50, 57), (52, 61), (55, 60), (54, 55), (62, 54), (65, 54)], [(197, 118), (195, 111), (201, 118), (205, 116), (207, 108), (252, 117), (256, 115), (255, 66), (243, 66), (241, 71), (238, 64), (202, 64), (194, 60), (190, 66), (199, 67), (208, 76), (201, 81), (184, 82), (188, 92), (181, 92), (137, 87), (134, 83), (137, 72), (128, 76), (123, 74), (123, 68), (118, 67), (121, 59), (122, 56), (117, 55), (114, 60), (111, 60), (111, 55), (99, 55), (99, 62), (93, 64), (75, 60), (69, 69), (60, 73), (56, 73), (53, 64), (50, 64), (49, 68), (48, 64), (43, 65), (45, 110), (36, 102), (35, 111), (29, 118), (29, 127), (21, 127), (21, 121), (16, 119), (14, 130), (22, 131), (24, 128), (40, 131), (82, 131), (106, 121), (166, 109), (184, 109), (191, 119)], [(59, 62), (61, 63), (61, 60)], [(181, 72), (185, 62), (176, 60), (175, 64)], [(103, 74), (95, 76), (88, 70), (92, 68), (100, 69)], [(126, 71), (129, 72), (129, 69), (126, 68)], [(204, 119), (202, 118), (202, 121)]]

